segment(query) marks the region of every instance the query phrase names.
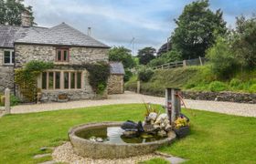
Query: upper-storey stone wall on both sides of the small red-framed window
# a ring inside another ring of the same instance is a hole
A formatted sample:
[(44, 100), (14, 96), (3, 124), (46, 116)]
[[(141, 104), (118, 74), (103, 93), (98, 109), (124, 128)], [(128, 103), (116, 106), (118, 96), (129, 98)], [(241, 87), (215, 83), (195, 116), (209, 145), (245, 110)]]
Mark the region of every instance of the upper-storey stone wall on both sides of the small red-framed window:
[[(108, 62), (107, 48), (69, 47), (69, 65), (88, 62)], [(16, 45), (16, 67), (22, 67), (31, 60), (55, 62), (56, 46)], [(56, 63), (60, 64), (60, 63)]]

